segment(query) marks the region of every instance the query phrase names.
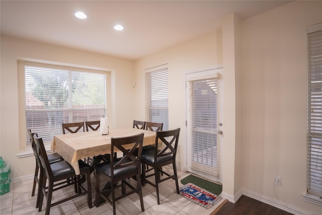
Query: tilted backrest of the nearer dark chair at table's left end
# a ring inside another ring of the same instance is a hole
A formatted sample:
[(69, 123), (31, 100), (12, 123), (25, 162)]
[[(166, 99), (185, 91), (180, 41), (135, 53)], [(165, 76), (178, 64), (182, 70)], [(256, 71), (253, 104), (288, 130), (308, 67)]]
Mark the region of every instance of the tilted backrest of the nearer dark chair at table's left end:
[[(47, 178), (52, 178), (53, 174), (52, 174), (52, 171), (50, 168), (50, 164), (49, 164), (49, 160), (47, 157), (44, 142), (42, 141), (41, 137), (38, 137), (37, 133), (34, 134), (34, 142), (36, 145), (37, 154), (38, 154), (38, 158), (40, 160), (41, 166), (44, 169)], [(39, 167), (41, 167), (41, 166), (39, 166)]]

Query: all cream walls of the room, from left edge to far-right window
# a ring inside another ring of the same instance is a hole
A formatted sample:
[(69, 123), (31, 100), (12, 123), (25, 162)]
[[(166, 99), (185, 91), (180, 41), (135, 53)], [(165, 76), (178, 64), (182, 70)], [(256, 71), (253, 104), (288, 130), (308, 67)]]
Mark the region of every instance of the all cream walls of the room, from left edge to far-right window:
[[(321, 207), (301, 196), (306, 189), (306, 27), (322, 22), (321, 9), (321, 1), (295, 1), (243, 21), (230, 15), (216, 32), (135, 62), (2, 36), (0, 153), (13, 167), (13, 177), (33, 172), (32, 157), (16, 158), (20, 150), (13, 130), (19, 126), (17, 57), (115, 69), (116, 126), (131, 126), (129, 118), (145, 119), (144, 69), (169, 63), (169, 127), (182, 128), (179, 168), (185, 166), (184, 72), (219, 64), (229, 68), (234, 58), (229, 73), (223, 74), (230, 76), (225, 94), (234, 95), (225, 103), (224, 111), (234, 116), (224, 119), (224, 134), (235, 130), (232, 138), (225, 139), (222, 155), (224, 192), (236, 196), (244, 189), (322, 214)], [(228, 47), (229, 42), (234, 46)], [(273, 191), (275, 175), (282, 177), (282, 186), (276, 187), (278, 197)]]

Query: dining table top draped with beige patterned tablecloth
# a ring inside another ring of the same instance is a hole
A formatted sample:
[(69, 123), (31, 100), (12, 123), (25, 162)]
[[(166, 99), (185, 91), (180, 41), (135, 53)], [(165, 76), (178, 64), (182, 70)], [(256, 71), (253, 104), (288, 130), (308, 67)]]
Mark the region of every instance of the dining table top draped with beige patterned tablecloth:
[(74, 168), (75, 174), (79, 175), (78, 160), (111, 154), (112, 137), (125, 137), (140, 133), (144, 133), (143, 146), (154, 144), (156, 135), (154, 131), (119, 128), (110, 129), (106, 135), (100, 134), (99, 130), (58, 134), (54, 136), (50, 148), (67, 161)]

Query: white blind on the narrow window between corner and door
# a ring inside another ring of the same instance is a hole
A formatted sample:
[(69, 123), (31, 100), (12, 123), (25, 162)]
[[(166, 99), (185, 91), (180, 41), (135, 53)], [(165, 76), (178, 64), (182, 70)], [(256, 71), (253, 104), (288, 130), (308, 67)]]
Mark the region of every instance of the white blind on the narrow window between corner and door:
[(146, 119), (163, 123), (163, 130), (169, 130), (168, 65), (146, 69), (145, 72)]

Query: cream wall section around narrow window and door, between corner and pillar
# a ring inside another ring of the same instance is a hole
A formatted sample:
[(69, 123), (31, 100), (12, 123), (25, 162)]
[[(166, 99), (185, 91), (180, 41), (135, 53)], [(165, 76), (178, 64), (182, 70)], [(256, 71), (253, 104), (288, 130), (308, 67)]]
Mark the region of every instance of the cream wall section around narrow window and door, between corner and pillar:
[(184, 73), (185, 71), (222, 64), (221, 30), (203, 37), (179, 44), (164, 51), (135, 61), (135, 112), (134, 118), (145, 119), (144, 109), (144, 69), (169, 64), (169, 129), (180, 127), (177, 165), (185, 167), (185, 121), (184, 121)]

